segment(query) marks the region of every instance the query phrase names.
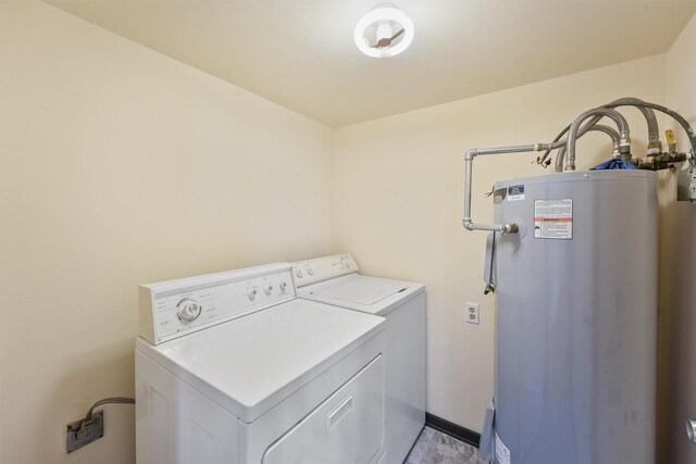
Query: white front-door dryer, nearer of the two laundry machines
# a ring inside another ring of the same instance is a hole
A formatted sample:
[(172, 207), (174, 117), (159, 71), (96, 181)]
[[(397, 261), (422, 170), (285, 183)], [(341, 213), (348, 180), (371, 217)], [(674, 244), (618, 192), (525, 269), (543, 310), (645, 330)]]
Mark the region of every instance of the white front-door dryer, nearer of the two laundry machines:
[(381, 462), (383, 317), (297, 298), (289, 263), (139, 297), (139, 464)]

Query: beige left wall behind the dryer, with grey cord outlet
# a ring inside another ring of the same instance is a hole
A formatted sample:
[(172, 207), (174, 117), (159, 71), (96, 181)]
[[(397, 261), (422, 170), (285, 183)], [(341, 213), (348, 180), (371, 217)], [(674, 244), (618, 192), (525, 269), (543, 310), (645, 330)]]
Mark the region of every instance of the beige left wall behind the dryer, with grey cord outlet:
[(134, 461), (137, 285), (327, 253), (332, 131), (45, 3), (0, 1), (0, 462)]

